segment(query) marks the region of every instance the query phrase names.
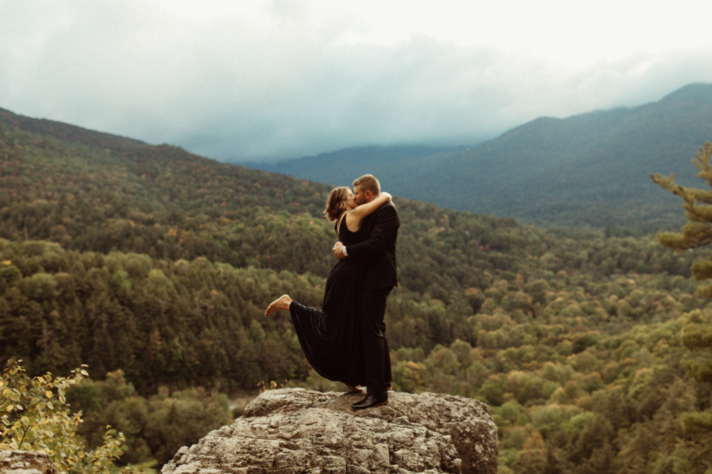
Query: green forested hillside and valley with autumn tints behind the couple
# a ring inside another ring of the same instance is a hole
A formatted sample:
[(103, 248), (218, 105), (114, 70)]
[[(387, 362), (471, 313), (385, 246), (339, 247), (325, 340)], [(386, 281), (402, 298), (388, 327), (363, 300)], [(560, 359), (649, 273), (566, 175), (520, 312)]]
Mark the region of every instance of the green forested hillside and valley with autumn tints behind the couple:
[[(88, 364), (68, 399), (90, 443), (111, 424), (122, 463), (159, 467), (230, 399), (342, 389), (286, 313), (262, 317), (282, 293), (320, 305), (330, 186), (6, 111), (0, 163), (0, 360)], [(394, 200), (394, 389), (488, 403), (502, 473), (711, 467), (712, 307), (690, 278), (708, 251)]]

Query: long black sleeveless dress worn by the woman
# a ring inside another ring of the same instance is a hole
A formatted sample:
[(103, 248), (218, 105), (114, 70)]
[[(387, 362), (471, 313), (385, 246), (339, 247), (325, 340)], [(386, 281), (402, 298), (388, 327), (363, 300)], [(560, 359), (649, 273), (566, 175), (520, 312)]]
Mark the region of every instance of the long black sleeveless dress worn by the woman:
[[(362, 230), (351, 232), (345, 218), (339, 240), (346, 246), (365, 239)], [(360, 308), (362, 266), (339, 260), (326, 279), (322, 309), (293, 301), (289, 312), (304, 355), (319, 375), (350, 385), (366, 384), (361, 343)]]

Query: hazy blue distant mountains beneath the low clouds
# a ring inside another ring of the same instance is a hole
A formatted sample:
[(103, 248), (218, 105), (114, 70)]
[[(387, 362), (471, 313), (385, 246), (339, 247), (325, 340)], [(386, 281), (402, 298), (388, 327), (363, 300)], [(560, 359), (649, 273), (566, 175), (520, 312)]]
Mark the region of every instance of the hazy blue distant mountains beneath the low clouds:
[(705, 141), (712, 85), (693, 84), (640, 107), (535, 119), (473, 146), (368, 146), (244, 164), (345, 185), (373, 173), (395, 195), (455, 210), (650, 232), (684, 222), (680, 201), (650, 173), (703, 185), (691, 160)]

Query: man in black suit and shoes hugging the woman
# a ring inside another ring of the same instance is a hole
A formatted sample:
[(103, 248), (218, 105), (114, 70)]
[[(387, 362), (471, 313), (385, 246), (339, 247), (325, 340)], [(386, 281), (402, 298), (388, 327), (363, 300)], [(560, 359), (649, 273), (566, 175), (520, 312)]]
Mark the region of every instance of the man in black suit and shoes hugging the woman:
[[(353, 185), (357, 204), (370, 203), (381, 193), (381, 186), (372, 175), (357, 178)], [(364, 241), (348, 247), (336, 242), (334, 246), (337, 258), (363, 262), (362, 343), (367, 392), (365, 399), (351, 406), (353, 410), (388, 403), (391, 360), (383, 318), (388, 295), (398, 284), (396, 240), (399, 227), (398, 212), (389, 202), (363, 220), (362, 230), (368, 235)]]

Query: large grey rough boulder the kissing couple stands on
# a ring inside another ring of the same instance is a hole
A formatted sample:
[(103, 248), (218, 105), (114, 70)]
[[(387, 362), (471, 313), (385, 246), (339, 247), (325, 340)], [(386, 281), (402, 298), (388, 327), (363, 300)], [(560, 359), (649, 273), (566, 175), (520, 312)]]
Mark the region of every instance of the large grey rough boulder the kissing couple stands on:
[(263, 392), (234, 424), (180, 448), (161, 473), (496, 473), (486, 404), (389, 392), (389, 404), (351, 411), (360, 397)]

